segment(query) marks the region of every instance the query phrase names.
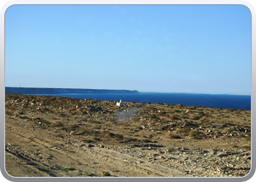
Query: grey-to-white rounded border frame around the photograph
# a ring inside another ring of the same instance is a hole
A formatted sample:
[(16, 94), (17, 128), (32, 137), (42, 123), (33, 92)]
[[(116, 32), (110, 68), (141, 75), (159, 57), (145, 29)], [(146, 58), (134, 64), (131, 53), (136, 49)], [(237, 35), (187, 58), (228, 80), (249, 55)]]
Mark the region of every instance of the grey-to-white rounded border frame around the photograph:
[[(104, 177), (100, 177), (100, 178), (66, 178), (66, 177), (12, 177), (10, 176), (6, 170), (5, 170), (5, 154), (4, 154), (4, 150), (5, 150), (5, 126), (4, 126), (4, 121), (5, 121), (5, 113), (4, 113), (4, 109), (5, 109), (5, 60), (4, 60), (4, 17), (5, 17), (5, 12), (7, 11), (7, 9), (9, 7), (11, 7), (12, 5), (29, 5), (29, 4), (34, 4), (34, 5), (42, 5), (42, 4), (48, 4), (48, 5), (56, 5), (56, 4), (63, 4), (63, 5), (68, 5), (68, 4), (75, 4), (75, 5), (80, 5), (80, 4), (120, 4), (120, 5), (125, 5), (125, 4), (163, 4), (163, 5), (167, 5), (167, 4), (173, 4), (173, 5), (244, 5), (245, 7), (247, 7), (252, 15), (252, 33), (255, 32), (255, 8), (252, 6), (252, 4), (250, 4), (248, 1), (242, 1), (242, 0), (123, 0), (123, 1), (117, 1), (117, 0), (108, 0), (108, 1), (104, 1), (104, 0), (94, 0), (94, 1), (83, 1), (83, 0), (63, 0), (63, 1), (59, 1), (59, 0), (12, 0), (12, 1), (7, 1), (7, 3), (5, 3), (3, 5), (3, 7), (1, 7), (1, 12), (0, 12), (0, 21), (1, 21), (1, 29), (0, 29), (0, 34), (1, 34), (1, 42), (0, 42), (0, 46), (1, 46), (1, 54), (0, 54), (0, 74), (1, 74), (1, 85), (2, 87), (0, 87), (0, 92), (1, 92), (1, 97), (0, 97), (0, 111), (1, 111), (1, 146), (3, 146), (0, 150), (0, 159), (1, 159), (1, 174), (3, 175), (3, 177), (8, 180), (8, 181), (45, 181), (45, 180), (50, 180), (50, 181), (133, 181), (133, 180), (139, 180), (139, 181), (216, 181), (216, 180), (224, 180), (224, 181), (249, 181), (254, 175), (255, 175), (255, 154), (253, 151), (255, 151), (255, 133), (252, 132), (252, 140), (251, 140), (251, 145), (252, 145), (252, 160), (251, 160), (251, 170), (250, 172), (245, 175), (244, 177), (189, 177), (189, 178), (179, 178), (179, 177), (161, 177), (161, 178), (135, 178), (135, 177), (129, 177), (129, 178), (104, 178)], [(255, 92), (255, 74), (253, 71), (255, 71), (255, 33), (252, 34), (252, 62), (251, 62), (251, 114), (252, 114), (252, 118), (251, 118), (251, 123), (252, 123), (252, 128), (255, 130), (255, 124), (252, 122), (254, 120), (254, 116), (255, 116), (255, 95), (253, 95), (252, 93)]]

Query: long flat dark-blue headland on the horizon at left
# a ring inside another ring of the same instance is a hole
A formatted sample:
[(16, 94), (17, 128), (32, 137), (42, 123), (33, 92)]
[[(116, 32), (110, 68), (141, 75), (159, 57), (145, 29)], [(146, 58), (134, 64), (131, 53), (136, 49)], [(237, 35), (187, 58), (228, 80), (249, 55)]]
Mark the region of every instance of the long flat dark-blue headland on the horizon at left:
[(5, 94), (59, 94), (59, 93), (139, 93), (137, 90), (98, 90), (69, 88), (5, 87)]

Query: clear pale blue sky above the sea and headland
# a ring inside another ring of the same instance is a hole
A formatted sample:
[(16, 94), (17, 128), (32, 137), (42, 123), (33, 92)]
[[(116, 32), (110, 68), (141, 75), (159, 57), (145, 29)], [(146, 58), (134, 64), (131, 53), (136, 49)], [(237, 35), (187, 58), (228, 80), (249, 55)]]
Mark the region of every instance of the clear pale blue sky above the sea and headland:
[(242, 5), (15, 5), (5, 86), (251, 95)]

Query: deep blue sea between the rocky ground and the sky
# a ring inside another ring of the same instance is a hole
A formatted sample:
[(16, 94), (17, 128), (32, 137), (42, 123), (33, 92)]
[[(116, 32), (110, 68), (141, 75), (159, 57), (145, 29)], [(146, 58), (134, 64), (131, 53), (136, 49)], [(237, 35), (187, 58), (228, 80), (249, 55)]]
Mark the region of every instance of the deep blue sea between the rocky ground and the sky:
[[(40, 95), (40, 94), (28, 94)], [(157, 93), (140, 92), (138, 94), (45, 94), (67, 98), (81, 98), (93, 100), (123, 100), (124, 102), (166, 103), (183, 106), (205, 106), (211, 108), (234, 108), (251, 111), (251, 95), (211, 95), (190, 93)]]

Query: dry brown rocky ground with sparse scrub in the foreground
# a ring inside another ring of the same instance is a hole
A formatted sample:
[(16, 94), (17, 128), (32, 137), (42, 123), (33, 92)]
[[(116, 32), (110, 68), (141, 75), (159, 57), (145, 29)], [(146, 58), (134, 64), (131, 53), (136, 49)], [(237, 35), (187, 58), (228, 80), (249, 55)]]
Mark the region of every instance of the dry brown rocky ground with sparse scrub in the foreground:
[(251, 111), (5, 95), (5, 167), (19, 177), (238, 177)]

